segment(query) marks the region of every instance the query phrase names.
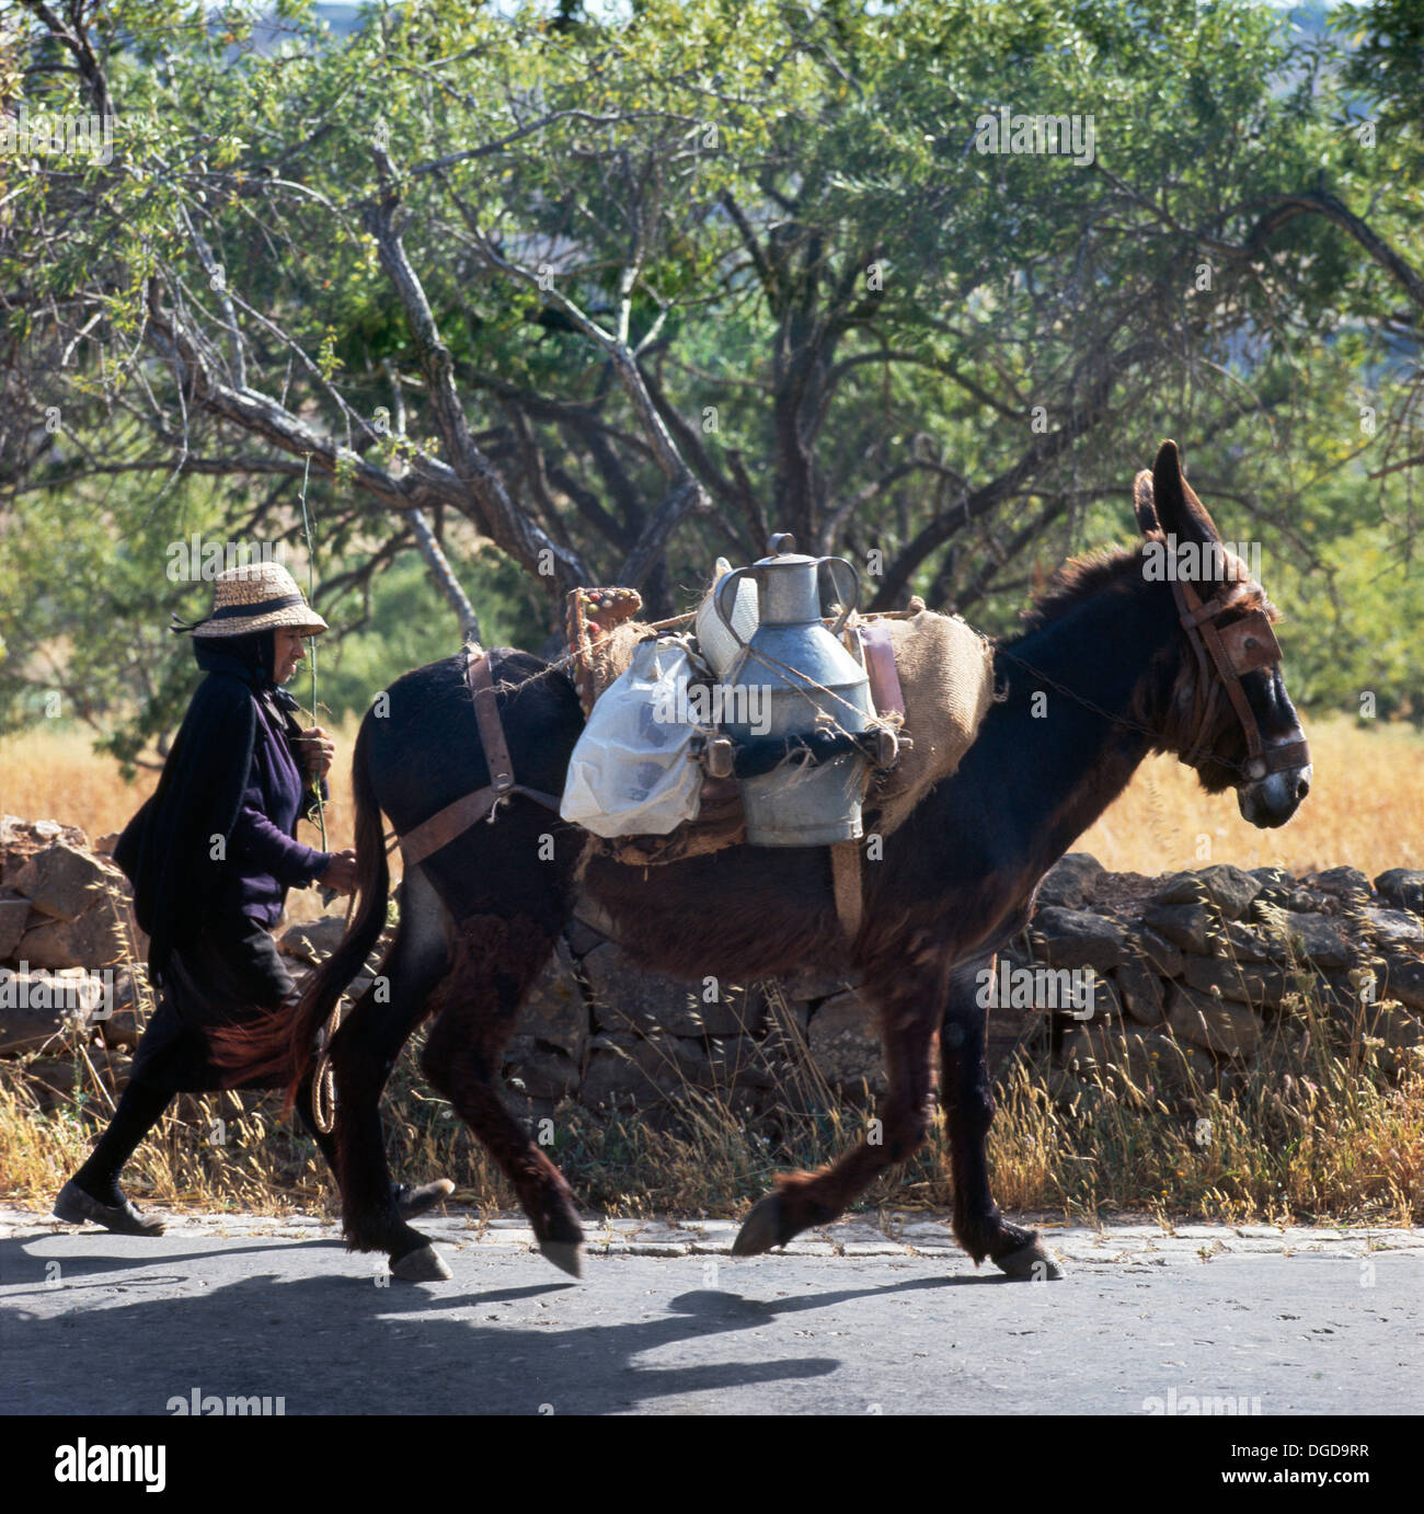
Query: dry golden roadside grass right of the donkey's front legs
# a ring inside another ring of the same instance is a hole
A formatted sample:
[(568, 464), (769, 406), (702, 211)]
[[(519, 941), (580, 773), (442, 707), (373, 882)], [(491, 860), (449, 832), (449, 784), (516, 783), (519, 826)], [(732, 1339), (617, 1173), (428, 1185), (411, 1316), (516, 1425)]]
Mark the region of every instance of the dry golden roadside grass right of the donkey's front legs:
[(1415, 1223), (1424, 1063), (1400, 1066), (1371, 1037), (1327, 1025), (1304, 1001), (1248, 1072), (1221, 1087), (1197, 1081), (1171, 1102), (1114, 1061), (1091, 1069), (1064, 1108), (1041, 1070), (1020, 1064), (990, 1137), (996, 1199), (1090, 1217), (1146, 1208), (1227, 1223)]

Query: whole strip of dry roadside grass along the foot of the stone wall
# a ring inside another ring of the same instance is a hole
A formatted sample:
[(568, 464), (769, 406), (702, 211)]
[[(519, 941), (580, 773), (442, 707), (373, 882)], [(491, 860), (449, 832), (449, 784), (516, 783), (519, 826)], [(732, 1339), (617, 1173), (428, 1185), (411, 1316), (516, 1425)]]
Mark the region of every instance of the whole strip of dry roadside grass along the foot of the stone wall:
[[(1188, 1058), (1129, 1072), (1127, 1055), (1065, 1078), (1046, 1048), (1026, 1048), (997, 1089), (994, 1195), (1009, 1213), (1067, 1220), (1146, 1211), (1164, 1222), (1412, 1225), (1424, 1213), (1424, 1052), (1394, 1051), (1366, 1031), (1298, 993), (1261, 1057), (1220, 1079)], [(1108, 1034), (1121, 1043), (1121, 1030)], [(787, 1055), (773, 1117), (751, 1120), (731, 1093), (692, 1087), (642, 1116), (599, 1119), (567, 1102), (555, 1111), (549, 1155), (580, 1201), (607, 1214), (742, 1211), (778, 1170), (843, 1154), (875, 1113), (872, 1102), (858, 1110), (834, 1099), (796, 1048)], [(508, 1184), (422, 1084), (416, 1057), (418, 1043), (384, 1099), (392, 1170), (415, 1181), (443, 1173), (455, 1202), (511, 1208)], [(112, 1083), (88, 1063), (76, 1070), (77, 1092), (45, 1114), (21, 1064), (0, 1063), (6, 1202), (47, 1210), (101, 1128)], [(334, 1201), (315, 1143), (280, 1119), (272, 1095), (183, 1096), (124, 1181), (138, 1198), (180, 1210), (281, 1213)], [(858, 1207), (947, 1208), (952, 1198), (938, 1120), (922, 1152)]]

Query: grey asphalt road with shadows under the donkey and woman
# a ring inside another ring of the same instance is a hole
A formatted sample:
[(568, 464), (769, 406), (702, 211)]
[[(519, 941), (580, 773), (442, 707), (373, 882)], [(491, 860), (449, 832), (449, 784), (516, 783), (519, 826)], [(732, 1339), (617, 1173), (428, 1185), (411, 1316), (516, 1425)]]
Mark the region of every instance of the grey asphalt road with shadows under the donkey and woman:
[(728, 1222), (622, 1222), (574, 1284), (515, 1220), (421, 1223), (454, 1281), (389, 1281), (310, 1217), (138, 1240), (0, 1210), (0, 1411), (166, 1414), (195, 1390), (286, 1414), (1424, 1407), (1421, 1231), (1053, 1229), (1067, 1278), (1011, 1282), (923, 1216), (748, 1260)]

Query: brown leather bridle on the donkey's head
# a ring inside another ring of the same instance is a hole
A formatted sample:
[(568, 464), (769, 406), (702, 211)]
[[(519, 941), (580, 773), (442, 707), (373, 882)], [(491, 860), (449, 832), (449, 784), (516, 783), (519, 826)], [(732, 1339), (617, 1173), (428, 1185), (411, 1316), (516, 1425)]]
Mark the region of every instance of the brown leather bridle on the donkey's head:
[[(1251, 780), (1286, 768), (1306, 768), (1311, 762), (1311, 745), (1301, 737), (1283, 746), (1267, 746), (1261, 739), (1261, 727), (1251, 702), (1241, 687), (1244, 674), (1259, 668), (1274, 668), (1280, 662), (1280, 643), (1271, 630), (1265, 610), (1247, 610), (1230, 625), (1217, 625), (1217, 616), (1235, 609), (1235, 603), (1247, 592), (1245, 584), (1227, 583), (1205, 604), (1195, 587), (1180, 578), (1171, 580), (1171, 593), (1177, 604), (1177, 616), (1186, 631), (1186, 640), (1197, 659), (1195, 689), (1192, 690), (1191, 739), (1182, 762), (1200, 768), (1212, 759), (1209, 740), (1221, 707), (1221, 693), (1232, 702), (1241, 730), (1245, 734), (1245, 762), (1226, 763), (1235, 766)], [(1215, 671), (1215, 677), (1212, 672)], [(1221, 759), (1212, 759), (1221, 762)]]

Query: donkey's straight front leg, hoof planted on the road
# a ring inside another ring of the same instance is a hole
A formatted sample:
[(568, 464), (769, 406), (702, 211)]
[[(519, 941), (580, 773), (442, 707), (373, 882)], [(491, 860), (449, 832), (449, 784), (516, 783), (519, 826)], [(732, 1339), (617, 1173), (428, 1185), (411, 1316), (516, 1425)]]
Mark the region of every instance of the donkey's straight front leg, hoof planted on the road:
[(994, 1095), (985, 1061), (988, 1010), (981, 999), (994, 970), (994, 952), (953, 969), (940, 1026), (940, 1104), (949, 1122), (955, 1238), (976, 1264), (991, 1257), (1011, 1278), (1061, 1278), (1062, 1269), (1038, 1232), (1009, 1225), (990, 1193), (987, 1145)]

